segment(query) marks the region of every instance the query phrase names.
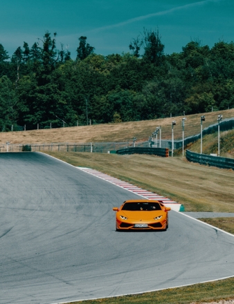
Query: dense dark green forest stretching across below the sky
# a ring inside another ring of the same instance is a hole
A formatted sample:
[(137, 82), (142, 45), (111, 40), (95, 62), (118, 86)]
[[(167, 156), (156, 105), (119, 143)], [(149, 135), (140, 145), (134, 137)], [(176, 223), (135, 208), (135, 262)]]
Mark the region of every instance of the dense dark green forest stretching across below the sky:
[(151, 120), (234, 106), (234, 44), (190, 41), (164, 53), (158, 30), (132, 39), (129, 53), (98, 55), (80, 37), (76, 59), (56, 33), (12, 57), (0, 44), (0, 131)]

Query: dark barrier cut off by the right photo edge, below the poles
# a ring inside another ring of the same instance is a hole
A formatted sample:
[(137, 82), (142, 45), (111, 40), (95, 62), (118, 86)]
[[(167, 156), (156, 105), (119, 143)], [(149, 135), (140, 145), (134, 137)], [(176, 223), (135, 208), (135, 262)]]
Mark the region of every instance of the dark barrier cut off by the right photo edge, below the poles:
[(199, 154), (189, 150), (186, 150), (186, 158), (189, 162), (197, 162), (208, 166), (234, 170), (233, 158), (220, 158), (218, 156)]

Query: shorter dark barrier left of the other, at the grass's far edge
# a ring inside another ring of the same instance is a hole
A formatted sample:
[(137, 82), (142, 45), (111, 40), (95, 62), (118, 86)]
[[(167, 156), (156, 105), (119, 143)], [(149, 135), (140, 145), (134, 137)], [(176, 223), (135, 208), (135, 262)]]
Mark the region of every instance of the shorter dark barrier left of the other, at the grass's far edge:
[(158, 155), (162, 158), (169, 157), (169, 149), (168, 148), (141, 148), (141, 147), (134, 147), (134, 148), (127, 148), (127, 149), (120, 149), (116, 151), (117, 154), (150, 154), (150, 155)]

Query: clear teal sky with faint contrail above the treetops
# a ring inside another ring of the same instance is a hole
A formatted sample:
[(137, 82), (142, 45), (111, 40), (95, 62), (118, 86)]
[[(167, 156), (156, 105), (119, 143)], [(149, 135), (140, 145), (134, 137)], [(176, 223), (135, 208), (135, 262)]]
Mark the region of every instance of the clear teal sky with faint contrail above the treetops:
[(212, 47), (234, 40), (234, 0), (8, 0), (1, 1), (0, 44), (8, 55), (31, 47), (46, 30), (57, 32), (76, 57), (78, 38), (87, 36), (95, 53), (129, 51), (143, 28), (159, 29), (165, 53), (179, 53), (192, 39)]

